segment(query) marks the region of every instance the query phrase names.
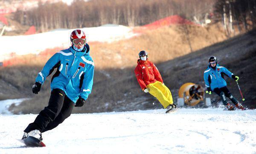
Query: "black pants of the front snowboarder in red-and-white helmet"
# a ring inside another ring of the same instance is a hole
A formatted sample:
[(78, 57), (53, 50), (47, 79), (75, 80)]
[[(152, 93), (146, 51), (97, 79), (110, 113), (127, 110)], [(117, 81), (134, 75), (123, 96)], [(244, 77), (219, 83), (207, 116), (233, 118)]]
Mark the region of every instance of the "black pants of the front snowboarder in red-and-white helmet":
[(48, 106), (41, 110), (33, 123), (30, 123), (24, 132), (29, 133), (38, 129), (41, 132), (49, 131), (61, 124), (70, 116), (74, 103), (61, 89), (53, 89)]

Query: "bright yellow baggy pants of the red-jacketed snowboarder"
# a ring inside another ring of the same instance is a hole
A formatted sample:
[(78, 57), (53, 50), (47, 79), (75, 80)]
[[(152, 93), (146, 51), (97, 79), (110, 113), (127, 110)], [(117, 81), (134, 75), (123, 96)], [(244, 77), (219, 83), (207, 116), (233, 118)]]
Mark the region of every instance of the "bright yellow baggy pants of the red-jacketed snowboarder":
[(166, 87), (162, 82), (156, 81), (152, 84), (147, 85), (148, 92), (157, 98), (157, 100), (167, 108), (168, 105), (173, 104), (172, 93), (168, 87)]

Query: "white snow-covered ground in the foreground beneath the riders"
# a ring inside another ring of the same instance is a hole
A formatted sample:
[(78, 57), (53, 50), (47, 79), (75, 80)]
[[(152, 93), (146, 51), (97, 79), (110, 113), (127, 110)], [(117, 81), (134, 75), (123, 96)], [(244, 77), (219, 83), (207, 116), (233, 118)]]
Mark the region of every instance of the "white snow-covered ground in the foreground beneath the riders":
[(256, 154), (256, 110), (72, 114), (26, 148), (16, 139), (36, 116), (0, 115), (0, 154)]

